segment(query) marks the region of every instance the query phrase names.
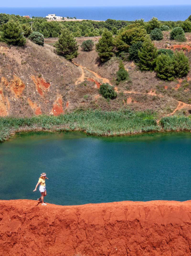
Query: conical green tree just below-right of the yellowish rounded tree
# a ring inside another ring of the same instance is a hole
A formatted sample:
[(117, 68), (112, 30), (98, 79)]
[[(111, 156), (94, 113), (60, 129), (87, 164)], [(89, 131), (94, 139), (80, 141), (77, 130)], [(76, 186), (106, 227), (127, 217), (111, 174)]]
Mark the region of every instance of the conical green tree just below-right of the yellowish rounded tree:
[(139, 67), (141, 70), (154, 70), (157, 57), (157, 48), (152, 43), (149, 36), (143, 42), (142, 47), (138, 51)]

